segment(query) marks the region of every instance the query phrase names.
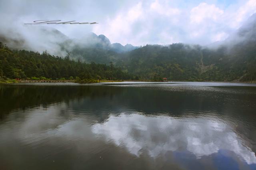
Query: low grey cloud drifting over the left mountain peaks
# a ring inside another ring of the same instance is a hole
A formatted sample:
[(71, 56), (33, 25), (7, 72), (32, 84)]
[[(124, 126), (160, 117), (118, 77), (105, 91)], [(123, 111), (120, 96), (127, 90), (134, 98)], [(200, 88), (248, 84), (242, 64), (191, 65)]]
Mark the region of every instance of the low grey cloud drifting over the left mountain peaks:
[(36, 27), (31, 29), (30, 35), (19, 34), (12, 30), (8, 34), (0, 33), (0, 42), (6, 43), (12, 49), (27, 49), (32, 51), (45, 51), (52, 55), (65, 56), (74, 48), (86, 49), (97, 48), (115, 51), (122, 53), (131, 51), (138, 47), (131, 44), (123, 46), (120, 43), (111, 43), (110, 40), (104, 36), (97, 36), (94, 33), (87, 33), (77, 39), (71, 39), (62, 32), (48, 27)]

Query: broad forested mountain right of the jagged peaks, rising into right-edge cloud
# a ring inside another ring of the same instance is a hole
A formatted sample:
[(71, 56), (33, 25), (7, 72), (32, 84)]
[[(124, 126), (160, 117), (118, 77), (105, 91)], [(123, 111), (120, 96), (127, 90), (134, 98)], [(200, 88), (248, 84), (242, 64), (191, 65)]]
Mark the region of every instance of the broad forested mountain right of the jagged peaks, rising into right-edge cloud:
[(146, 45), (116, 62), (140, 79), (185, 81), (255, 81), (256, 14), (214, 48), (174, 43)]

